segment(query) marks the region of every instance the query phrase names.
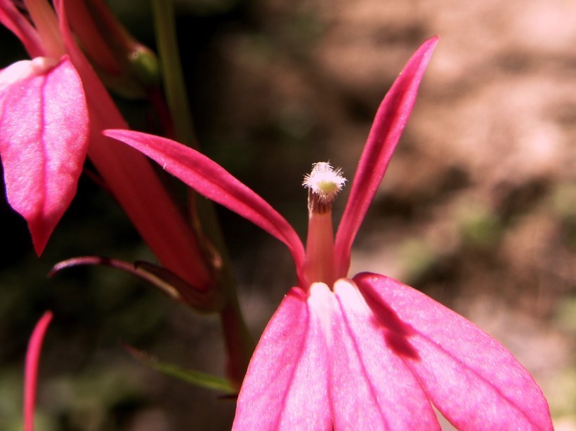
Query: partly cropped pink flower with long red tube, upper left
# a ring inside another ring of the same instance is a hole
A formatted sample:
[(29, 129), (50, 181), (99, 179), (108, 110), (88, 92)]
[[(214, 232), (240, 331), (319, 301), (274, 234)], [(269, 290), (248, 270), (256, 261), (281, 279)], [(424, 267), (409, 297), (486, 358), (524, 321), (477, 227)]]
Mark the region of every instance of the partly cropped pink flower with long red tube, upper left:
[[(0, 22), (33, 58), (0, 71), (0, 156), (8, 201), (27, 220), (41, 254), (76, 193), (87, 154), (160, 263), (207, 291), (214, 277), (204, 252), (148, 160), (101, 133), (127, 128), (126, 121), (77, 46), (65, 1), (54, 0), (54, 10), (47, 0), (26, 0), (29, 20), (11, 0), (0, 0)], [(84, 0), (73, 1), (77, 10)]]

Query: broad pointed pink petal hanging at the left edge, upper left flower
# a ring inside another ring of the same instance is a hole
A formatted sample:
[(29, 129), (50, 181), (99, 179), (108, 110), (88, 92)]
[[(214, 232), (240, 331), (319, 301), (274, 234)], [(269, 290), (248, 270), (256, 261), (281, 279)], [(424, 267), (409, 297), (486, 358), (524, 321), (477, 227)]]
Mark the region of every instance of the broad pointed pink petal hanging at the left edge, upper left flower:
[(27, 62), (31, 72), (20, 81), (12, 81), (10, 67), (0, 72), (0, 155), (8, 202), (26, 219), (41, 254), (76, 193), (89, 116), (70, 60), (48, 69), (39, 60)]

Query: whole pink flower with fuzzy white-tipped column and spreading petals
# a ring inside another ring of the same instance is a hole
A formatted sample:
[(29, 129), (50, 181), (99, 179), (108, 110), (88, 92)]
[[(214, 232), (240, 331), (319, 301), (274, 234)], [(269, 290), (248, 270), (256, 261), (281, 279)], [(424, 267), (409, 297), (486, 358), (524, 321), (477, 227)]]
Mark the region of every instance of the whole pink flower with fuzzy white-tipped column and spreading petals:
[(351, 246), (410, 115), (437, 39), (414, 53), (381, 103), (336, 237), (332, 201), (344, 179), (315, 164), (306, 251), (266, 201), (214, 161), (177, 142), (106, 131), (289, 248), (298, 286), (268, 323), (237, 402), (236, 430), (433, 430), (434, 407), (469, 430), (549, 430), (528, 371), (494, 338), (381, 274), (348, 276)]

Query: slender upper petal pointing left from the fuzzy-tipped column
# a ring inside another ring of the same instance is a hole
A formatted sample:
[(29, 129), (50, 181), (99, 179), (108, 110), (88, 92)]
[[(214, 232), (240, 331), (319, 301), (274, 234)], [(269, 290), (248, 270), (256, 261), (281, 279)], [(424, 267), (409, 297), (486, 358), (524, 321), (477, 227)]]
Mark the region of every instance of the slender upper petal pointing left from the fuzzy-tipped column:
[(216, 162), (190, 147), (159, 136), (126, 130), (107, 130), (104, 134), (143, 152), (199, 194), (235, 211), (280, 239), (292, 253), (299, 281), (303, 283), (304, 250), (298, 234), (268, 202)]

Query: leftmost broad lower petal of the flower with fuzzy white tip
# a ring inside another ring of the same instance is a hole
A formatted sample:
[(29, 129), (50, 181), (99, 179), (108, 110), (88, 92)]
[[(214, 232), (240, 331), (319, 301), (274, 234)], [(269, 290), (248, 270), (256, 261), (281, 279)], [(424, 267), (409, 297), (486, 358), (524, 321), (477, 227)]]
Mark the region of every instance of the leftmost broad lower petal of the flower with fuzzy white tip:
[(325, 284), (313, 285), (308, 301), (299, 288), (284, 297), (251, 359), (233, 430), (332, 430), (319, 312), (331, 297)]

